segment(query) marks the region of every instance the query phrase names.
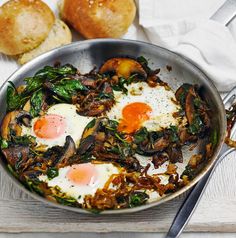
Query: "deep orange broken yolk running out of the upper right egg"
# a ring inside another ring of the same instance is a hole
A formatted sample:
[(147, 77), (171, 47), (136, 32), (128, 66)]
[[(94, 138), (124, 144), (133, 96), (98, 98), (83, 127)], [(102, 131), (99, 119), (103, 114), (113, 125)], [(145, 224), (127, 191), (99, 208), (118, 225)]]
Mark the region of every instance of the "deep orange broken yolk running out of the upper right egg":
[(143, 102), (134, 102), (126, 105), (122, 110), (122, 119), (118, 130), (124, 133), (134, 133), (149, 119), (152, 108)]

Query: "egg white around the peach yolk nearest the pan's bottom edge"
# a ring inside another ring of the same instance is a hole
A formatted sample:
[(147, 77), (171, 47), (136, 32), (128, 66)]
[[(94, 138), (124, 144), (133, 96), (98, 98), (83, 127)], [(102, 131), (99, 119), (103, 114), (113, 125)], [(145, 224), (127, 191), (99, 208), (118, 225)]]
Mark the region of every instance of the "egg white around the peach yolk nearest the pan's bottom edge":
[[(91, 163), (90, 163), (91, 164)], [(66, 176), (71, 166), (60, 168), (57, 177), (49, 180), (46, 175), (40, 175), (39, 180), (46, 182), (49, 187), (57, 186), (60, 191), (69, 197), (73, 197), (79, 203), (83, 203), (86, 195), (94, 195), (98, 188), (103, 188), (112, 174), (118, 174), (119, 169), (111, 163), (92, 164), (98, 173), (98, 179), (88, 185), (77, 185), (68, 179)]]

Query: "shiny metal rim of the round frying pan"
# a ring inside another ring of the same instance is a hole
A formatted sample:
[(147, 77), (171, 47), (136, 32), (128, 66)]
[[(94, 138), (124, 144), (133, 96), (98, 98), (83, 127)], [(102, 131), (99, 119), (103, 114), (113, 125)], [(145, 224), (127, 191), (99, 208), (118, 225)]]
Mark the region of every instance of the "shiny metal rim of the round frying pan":
[[(78, 41), (78, 42), (73, 42), (71, 44), (53, 49), (49, 52), (46, 52), (38, 57), (36, 57), (35, 59), (33, 59), (32, 61), (30, 61), (29, 63), (23, 65), (22, 67), (20, 67), (19, 69), (17, 69), (15, 72), (13, 72), (10, 77), (8, 77), (4, 83), (1, 85), (0, 87), (0, 95), (2, 94), (3, 89), (6, 87), (6, 84), (8, 81), (11, 81), (12, 79), (14, 79), (15, 77), (17, 77), (17, 75), (26, 72), (27, 70), (29, 70), (32, 66), (34, 66), (35, 64), (37, 64), (38, 62), (43, 61), (43, 59), (47, 58), (48, 56), (52, 56), (54, 54), (56, 54), (58, 51), (67, 51), (70, 48), (74, 48), (76, 46), (85, 46), (86, 44), (88, 45), (92, 45), (92, 44), (98, 44), (98, 43), (130, 43), (130, 44), (138, 44), (138, 45), (143, 45), (143, 46), (149, 46), (155, 49), (159, 49), (161, 51), (167, 52), (168, 54), (177, 57), (180, 61), (184, 62), (184, 64), (188, 64), (192, 69), (195, 69), (199, 75), (201, 75), (202, 78), (204, 78), (204, 80), (206, 80), (208, 82), (208, 84), (212, 87), (212, 90), (215, 93), (215, 97), (216, 97), (216, 104), (218, 105), (218, 107), (220, 107), (220, 111), (222, 112), (221, 118), (223, 119), (223, 121), (221, 122), (222, 126), (220, 128), (220, 130), (222, 129), (222, 131), (220, 131), (220, 140), (219, 140), (219, 144), (217, 146), (217, 148), (215, 149), (214, 155), (211, 157), (211, 159), (208, 161), (207, 165), (204, 167), (204, 169), (201, 171), (201, 173), (199, 173), (193, 180), (190, 181), (190, 183), (186, 186), (184, 186), (183, 188), (179, 189), (178, 191), (167, 195), (163, 198), (161, 198), (160, 200), (157, 201), (153, 201), (138, 207), (134, 207), (134, 208), (125, 208), (125, 209), (116, 209), (116, 210), (105, 210), (102, 211), (101, 213), (99, 213), (100, 215), (106, 215), (106, 214), (126, 214), (126, 213), (133, 213), (133, 212), (138, 212), (141, 210), (146, 210), (148, 208), (151, 207), (155, 207), (158, 206), (162, 203), (165, 203), (167, 201), (170, 201), (176, 197), (178, 197), (179, 195), (185, 193), (187, 190), (189, 190), (190, 188), (192, 188), (213, 166), (214, 162), (217, 160), (217, 156), (221, 150), (221, 147), (223, 146), (224, 143), (224, 138), (226, 135), (226, 116), (225, 116), (225, 108), (223, 105), (223, 101), (219, 95), (218, 90), (216, 89), (215, 85), (213, 84), (213, 82), (210, 80), (210, 78), (198, 67), (196, 66), (191, 60), (187, 59), (186, 57), (179, 55), (175, 52), (172, 52), (164, 47), (160, 47), (151, 43), (147, 43), (147, 42), (143, 42), (143, 41), (137, 41), (137, 40), (126, 40), (126, 39), (92, 39), (92, 40), (84, 40), (84, 41)], [(224, 129), (224, 131), (223, 131)], [(25, 188), (25, 186), (17, 179), (15, 178), (10, 171), (7, 170), (6, 167), (4, 167), (4, 165), (2, 163), (0, 163), (0, 166), (2, 167), (2, 171), (4, 171), (4, 173), (6, 173), (10, 178), (11, 181), (16, 184), (16, 186), (23, 190), (24, 192), (26, 192), (30, 197), (33, 197), (36, 200), (39, 200), (45, 204), (48, 204), (50, 206), (53, 207), (57, 207), (57, 208), (62, 208), (65, 210), (70, 210), (70, 211), (74, 211), (74, 212), (78, 212), (78, 213), (83, 213), (83, 214), (91, 214), (91, 211), (82, 209), (82, 208), (77, 208), (77, 207), (70, 207), (70, 206), (65, 206), (59, 203), (55, 203), (52, 201), (49, 201), (48, 199), (33, 193), (31, 191), (29, 191), (27, 188)]]

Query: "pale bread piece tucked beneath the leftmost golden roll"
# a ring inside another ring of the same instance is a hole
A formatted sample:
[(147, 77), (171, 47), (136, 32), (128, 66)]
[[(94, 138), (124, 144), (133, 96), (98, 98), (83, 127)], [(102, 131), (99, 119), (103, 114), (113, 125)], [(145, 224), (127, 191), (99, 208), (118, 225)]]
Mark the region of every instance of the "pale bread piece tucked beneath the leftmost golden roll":
[(46, 40), (35, 49), (21, 55), (18, 62), (20, 64), (25, 64), (35, 57), (56, 47), (69, 44), (71, 41), (72, 35), (70, 29), (63, 21), (57, 19)]

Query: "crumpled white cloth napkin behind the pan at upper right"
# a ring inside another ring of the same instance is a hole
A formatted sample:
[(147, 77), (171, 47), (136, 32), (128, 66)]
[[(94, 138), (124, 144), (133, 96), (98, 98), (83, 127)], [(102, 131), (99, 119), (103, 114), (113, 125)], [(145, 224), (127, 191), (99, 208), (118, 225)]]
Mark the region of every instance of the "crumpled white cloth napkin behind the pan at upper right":
[[(138, 25), (125, 38), (141, 39), (191, 59), (219, 91), (236, 86), (236, 21), (227, 28), (209, 18), (224, 0), (137, 0)], [(142, 26), (146, 38), (141, 34)]]

